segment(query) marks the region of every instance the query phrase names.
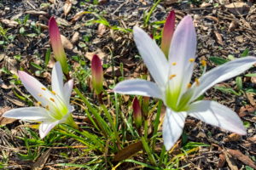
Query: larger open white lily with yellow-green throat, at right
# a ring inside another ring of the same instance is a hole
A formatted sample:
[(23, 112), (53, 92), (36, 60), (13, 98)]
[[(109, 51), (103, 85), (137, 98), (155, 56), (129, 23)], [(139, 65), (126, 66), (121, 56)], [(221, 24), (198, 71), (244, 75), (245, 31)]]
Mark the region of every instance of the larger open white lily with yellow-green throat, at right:
[[(193, 20), (188, 15), (174, 31), (168, 60), (148, 34), (135, 26), (134, 39), (143, 61), (155, 82), (142, 79), (119, 82), (113, 89), (119, 94), (143, 95), (162, 99), (166, 105), (163, 122), (163, 138), (166, 150), (170, 150), (183, 132), (186, 116), (224, 128), (238, 134), (246, 134), (236, 112), (215, 101), (195, 101), (208, 88), (218, 82), (236, 77), (256, 63), (255, 57), (235, 59), (220, 65), (190, 84), (195, 65), (196, 35)], [(202, 62), (204, 66), (205, 63)]]

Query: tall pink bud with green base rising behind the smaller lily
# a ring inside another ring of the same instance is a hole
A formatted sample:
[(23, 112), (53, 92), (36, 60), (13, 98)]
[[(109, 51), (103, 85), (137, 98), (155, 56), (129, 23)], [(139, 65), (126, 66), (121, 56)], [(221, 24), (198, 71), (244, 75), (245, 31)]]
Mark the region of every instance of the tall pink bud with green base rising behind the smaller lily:
[(49, 19), (49, 40), (55, 54), (55, 59), (60, 61), (62, 71), (67, 74), (67, 56), (61, 42), (61, 34), (54, 17)]

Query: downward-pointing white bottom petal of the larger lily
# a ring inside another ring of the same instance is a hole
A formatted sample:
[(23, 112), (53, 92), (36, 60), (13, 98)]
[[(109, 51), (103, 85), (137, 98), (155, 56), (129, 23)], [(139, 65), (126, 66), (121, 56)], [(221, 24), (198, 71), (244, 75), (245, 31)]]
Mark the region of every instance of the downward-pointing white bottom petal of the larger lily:
[(187, 112), (175, 112), (166, 108), (166, 116), (163, 123), (163, 138), (166, 150), (171, 150), (183, 133), (186, 116)]

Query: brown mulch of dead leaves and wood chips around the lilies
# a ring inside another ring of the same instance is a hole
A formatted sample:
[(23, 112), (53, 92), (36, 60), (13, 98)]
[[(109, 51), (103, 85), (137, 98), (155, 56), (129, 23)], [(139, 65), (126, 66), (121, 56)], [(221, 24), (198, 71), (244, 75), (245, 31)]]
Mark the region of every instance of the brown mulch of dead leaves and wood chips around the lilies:
[[(142, 59), (136, 56), (137, 48), (131, 32), (113, 31), (106, 26), (90, 23), (91, 20), (98, 20), (94, 14), (83, 14), (79, 18), (75, 18), (75, 16), (81, 11), (95, 12), (102, 14), (111, 26), (132, 29), (135, 25), (143, 26), (143, 13), (153, 6), (153, 1), (110, 0), (106, 3), (102, 1), (102, 4), (99, 5), (86, 3), (86, 1), (70, 0), (70, 2), (72, 8), (67, 11), (64, 8), (65, 1), (63, 0), (56, 1), (56, 3), (51, 3), (48, 0), (0, 1), (0, 26), (9, 29), (7, 35), (14, 37), (9, 39), (9, 42), (0, 37), (0, 41), (6, 42), (0, 45), (1, 111), (9, 107), (27, 105), (15, 95), (15, 93), (26, 94), (26, 92), (21, 91), (18, 88), (19, 85), (11, 83), (14, 79), (12, 75), (15, 75), (20, 68), (34, 74), (41, 82), (50, 84), (51, 62), (43, 72), (38, 72), (38, 68), (33, 67), (30, 63), (33, 62), (42, 67), (44, 65), (44, 56), (47, 49), (50, 48), (49, 34), (44, 26), (47, 26), (49, 17), (53, 15), (59, 21), (61, 34), (67, 37), (67, 41), (72, 42), (73, 47), (67, 47), (66, 53), (74, 71), (82, 64), (73, 56), (79, 56), (85, 62), (83, 67), (86, 69), (89, 68), (91, 56), (95, 53), (102, 58), (103, 64), (114, 65), (114, 71), (111, 67), (105, 69), (106, 88), (113, 85), (113, 78), (121, 76), (120, 63), (124, 65), (125, 78), (139, 77), (140, 72), (146, 70)], [(177, 14), (177, 23), (184, 15), (191, 14), (195, 20), (197, 31), (197, 59), (207, 59), (208, 70), (216, 66), (209, 60), (211, 56), (224, 59), (228, 59), (228, 56), (239, 58), (245, 50), (249, 51), (249, 55), (256, 56), (256, 4), (253, 1), (243, 2), (246, 6), (242, 7), (241, 11), (238, 9), (234, 11), (232, 8), (230, 9), (230, 6), (225, 6), (231, 3), (227, 0), (213, 0), (212, 3), (196, 4), (188, 2), (169, 4), (170, 2), (163, 0), (158, 5), (150, 18), (150, 23), (165, 20), (166, 15), (172, 9)], [(23, 20), (26, 14), (30, 14), (26, 25), (18, 24), (16, 20)], [(42, 31), (39, 34), (27, 36), (35, 33), (32, 23), (41, 26)], [(25, 33), (20, 34), (22, 27)], [(160, 31), (160, 28), (148, 26), (149, 34), (155, 30)], [(76, 35), (74, 35), (75, 32)], [(3, 71), (3, 68), (9, 72)], [(255, 73), (255, 67), (250, 72)], [(251, 78), (242, 77), (242, 81), (244, 88), (256, 88), (255, 80), (253, 82)], [(77, 85), (83, 88), (82, 84)], [(235, 79), (220, 83), (220, 85), (236, 89)], [(248, 98), (246, 94), (240, 96), (224, 94), (214, 88), (207, 91), (207, 99), (214, 99), (229, 106), (241, 116), (244, 122), (250, 124), (247, 128), (247, 135), (237, 137), (235, 134), (189, 118), (185, 128), (189, 141), (211, 144), (211, 146), (207, 149), (201, 148), (195, 155), (184, 157), (181, 166), (189, 164), (187, 169), (245, 169), (246, 166), (253, 167), (250, 160), (254, 159), (255, 161), (256, 156), (256, 105), (255, 93), (250, 95), (252, 96)], [(19, 122), (15, 123), (15, 125), (7, 126), (11, 128), (11, 126), (20, 125)], [(12, 165), (9, 167), (10, 169), (32, 167), (32, 162), (24, 163), (16, 156), (17, 152), (22, 153), (22, 149), (20, 149), (22, 142), (14, 138), (14, 135), (26, 133), (20, 131), (12, 129), (10, 132), (6, 132), (0, 128), (0, 149), (9, 153), (9, 163)], [(59, 163), (56, 160), (61, 158), (64, 160), (63, 162), (66, 162), (65, 157), (58, 157), (57, 153), (56, 151), (52, 160), (49, 159), (45, 166)], [(0, 163), (3, 160), (4, 157), (0, 154)]]

